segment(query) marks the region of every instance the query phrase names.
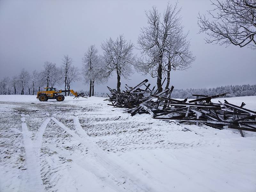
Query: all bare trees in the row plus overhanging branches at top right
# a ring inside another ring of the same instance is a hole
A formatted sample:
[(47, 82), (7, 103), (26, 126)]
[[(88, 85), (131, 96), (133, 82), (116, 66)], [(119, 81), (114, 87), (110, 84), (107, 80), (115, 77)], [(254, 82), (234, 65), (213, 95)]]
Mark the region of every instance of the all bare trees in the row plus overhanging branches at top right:
[[(199, 15), (198, 24), (200, 32), (205, 32), (209, 38), (208, 43), (245, 45), (255, 49), (256, 41), (256, 0), (226, 0), (212, 1), (215, 9), (208, 11), (210, 18)], [(167, 77), (165, 89), (169, 88), (171, 71), (184, 70), (191, 66), (196, 59), (190, 51), (188, 33), (180, 16), (181, 9), (177, 3), (167, 4), (161, 15), (156, 7), (146, 12), (148, 24), (141, 28), (138, 36), (138, 47), (142, 56), (133, 53), (134, 44), (127, 41), (123, 35), (113, 40), (107, 39), (101, 44), (102, 55), (98, 54), (95, 45), (91, 45), (85, 52), (83, 68), (72, 66), (72, 58), (65, 55), (62, 66), (56, 67), (55, 63), (46, 61), (42, 71), (33, 71), (29, 75), (23, 69), (18, 76), (11, 79), (5, 77), (1, 80), (0, 93), (14, 94), (17, 87), (20, 93), (28, 88), (35, 92), (35, 87), (54, 86), (64, 83), (65, 90), (70, 89), (70, 84), (78, 81), (79, 75), (84, 77), (84, 82), (90, 84), (90, 96), (94, 95), (94, 85), (107, 82), (113, 74), (117, 76), (117, 91), (120, 91), (121, 77), (128, 79), (134, 69), (146, 75), (156, 77), (157, 89), (163, 90), (162, 79)]]

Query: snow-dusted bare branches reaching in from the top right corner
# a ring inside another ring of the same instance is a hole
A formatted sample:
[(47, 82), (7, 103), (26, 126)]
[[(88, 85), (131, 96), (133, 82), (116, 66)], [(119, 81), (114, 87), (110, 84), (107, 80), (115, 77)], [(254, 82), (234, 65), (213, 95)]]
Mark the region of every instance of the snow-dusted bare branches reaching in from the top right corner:
[(214, 0), (214, 9), (198, 17), (200, 33), (209, 37), (207, 43), (233, 44), (256, 49), (256, 0)]

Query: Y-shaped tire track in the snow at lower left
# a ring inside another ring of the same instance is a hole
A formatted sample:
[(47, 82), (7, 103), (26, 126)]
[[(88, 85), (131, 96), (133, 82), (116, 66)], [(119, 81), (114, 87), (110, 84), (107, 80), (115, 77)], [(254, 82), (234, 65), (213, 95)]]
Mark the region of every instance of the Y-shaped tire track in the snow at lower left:
[(36, 135), (36, 139), (31, 139), (31, 132), (28, 131), (28, 127), (26, 124), (25, 117), (21, 117), (21, 127), (22, 127), (22, 136), (23, 136), (23, 142), (24, 142), (24, 148), (26, 153), (26, 165), (27, 165), (27, 180), (28, 183), (24, 186), (26, 186), (26, 189), (24, 191), (26, 192), (43, 192), (43, 182), (41, 179), (41, 171), (40, 171), (40, 164), (39, 164), (39, 153), (40, 153), (40, 147), (42, 142), (43, 133), (45, 130), (45, 127), (50, 121), (50, 118), (47, 118), (44, 123), (40, 126), (39, 132)]

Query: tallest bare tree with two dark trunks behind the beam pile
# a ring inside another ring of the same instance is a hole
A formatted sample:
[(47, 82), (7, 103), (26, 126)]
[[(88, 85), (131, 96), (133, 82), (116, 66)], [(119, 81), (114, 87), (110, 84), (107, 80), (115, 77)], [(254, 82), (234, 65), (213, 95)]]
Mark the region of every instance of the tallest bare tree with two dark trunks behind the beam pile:
[[(177, 3), (174, 6), (168, 4), (161, 18), (156, 7), (152, 7), (152, 10), (146, 12), (148, 27), (141, 28), (138, 37), (139, 49), (143, 57), (138, 60), (137, 68), (145, 74), (157, 77), (159, 92), (163, 90), (163, 73), (169, 76), (167, 82), (169, 86), (171, 67), (182, 65), (184, 66), (182, 69), (185, 69), (195, 60), (192, 52), (189, 51), (189, 41), (186, 40), (188, 34), (183, 33), (180, 11)], [(175, 64), (172, 61), (175, 61)]]

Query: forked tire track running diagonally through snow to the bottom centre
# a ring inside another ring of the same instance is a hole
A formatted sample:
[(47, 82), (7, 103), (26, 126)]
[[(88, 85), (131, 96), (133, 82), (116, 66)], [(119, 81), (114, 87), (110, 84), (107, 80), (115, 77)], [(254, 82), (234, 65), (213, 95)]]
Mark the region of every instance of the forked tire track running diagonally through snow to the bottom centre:
[(62, 127), (68, 134), (72, 135), (75, 139), (79, 140), (85, 146), (89, 148), (94, 153), (92, 158), (95, 158), (96, 162), (99, 163), (100, 166), (103, 166), (108, 172), (110, 172), (120, 183), (123, 183), (126, 189), (136, 188), (136, 191), (152, 191), (151, 187), (148, 187), (147, 183), (142, 182), (135, 175), (130, 175), (127, 171), (124, 171), (122, 167), (111, 162), (111, 160), (103, 154), (98, 146), (93, 142), (93, 140), (85, 133), (84, 129), (81, 127), (79, 120), (77, 117), (74, 119), (74, 124), (78, 134), (74, 131), (67, 128), (64, 124), (58, 121), (56, 118), (51, 117), (52, 120), (57, 123), (60, 127)]

